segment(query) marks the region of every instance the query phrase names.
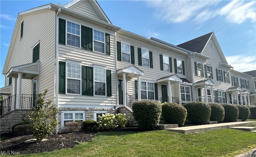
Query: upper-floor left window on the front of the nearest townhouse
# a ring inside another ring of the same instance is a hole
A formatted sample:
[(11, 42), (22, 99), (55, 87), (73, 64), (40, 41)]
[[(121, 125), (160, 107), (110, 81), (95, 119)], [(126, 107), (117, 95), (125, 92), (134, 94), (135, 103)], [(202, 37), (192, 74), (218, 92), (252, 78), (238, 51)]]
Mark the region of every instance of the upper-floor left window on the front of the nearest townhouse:
[(67, 45), (80, 47), (80, 25), (67, 21)]

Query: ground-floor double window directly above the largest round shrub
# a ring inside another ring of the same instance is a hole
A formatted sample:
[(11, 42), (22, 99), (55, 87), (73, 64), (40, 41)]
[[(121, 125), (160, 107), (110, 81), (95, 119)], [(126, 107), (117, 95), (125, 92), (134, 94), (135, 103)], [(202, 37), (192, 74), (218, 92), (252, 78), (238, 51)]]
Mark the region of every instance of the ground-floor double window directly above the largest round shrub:
[(152, 82), (143, 82), (140, 83), (140, 92), (142, 99), (155, 99), (155, 90), (154, 90), (154, 83)]

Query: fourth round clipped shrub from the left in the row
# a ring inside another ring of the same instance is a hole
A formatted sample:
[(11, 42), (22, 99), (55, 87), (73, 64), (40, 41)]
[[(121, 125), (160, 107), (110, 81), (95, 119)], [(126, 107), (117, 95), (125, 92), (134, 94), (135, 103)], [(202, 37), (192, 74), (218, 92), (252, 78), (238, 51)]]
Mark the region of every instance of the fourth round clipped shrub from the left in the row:
[(225, 116), (224, 107), (221, 104), (217, 103), (210, 103), (209, 105), (211, 106), (212, 109), (210, 120), (222, 122)]

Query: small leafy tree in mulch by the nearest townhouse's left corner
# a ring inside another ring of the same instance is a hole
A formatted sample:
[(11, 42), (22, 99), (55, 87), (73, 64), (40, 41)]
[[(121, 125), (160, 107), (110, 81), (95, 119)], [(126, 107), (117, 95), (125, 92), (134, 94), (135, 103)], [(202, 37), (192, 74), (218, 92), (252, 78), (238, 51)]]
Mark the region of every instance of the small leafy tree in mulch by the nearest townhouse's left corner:
[(48, 100), (47, 102), (44, 101), (47, 91), (48, 90), (45, 89), (43, 94), (38, 93), (37, 105), (31, 109), (31, 112), (28, 115), (31, 130), (38, 140), (44, 139), (52, 134), (55, 126), (58, 125), (58, 121), (56, 120), (58, 109), (56, 108), (56, 105), (51, 104), (51, 100)]

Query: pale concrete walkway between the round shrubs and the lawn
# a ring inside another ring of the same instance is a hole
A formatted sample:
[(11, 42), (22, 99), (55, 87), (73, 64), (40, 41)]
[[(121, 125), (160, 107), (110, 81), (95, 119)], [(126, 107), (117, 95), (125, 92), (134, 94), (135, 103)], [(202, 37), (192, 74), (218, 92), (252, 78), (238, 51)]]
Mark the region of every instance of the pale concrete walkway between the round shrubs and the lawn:
[(205, 125), (198, 125), (198, 126), (166, 128), (165, 130), (176, 131), (176, 132), (180, 132), (180, 133), (194, 133), (194, 132), (199, 132), (199, 131), (224, 129), (224, 128), (230, 128), (230, 127), (235, 127), (235, 126), (243, 126), (243, 125), (247, 125), (247, 124), (256, 124), (256, 121), (205, 124)]

